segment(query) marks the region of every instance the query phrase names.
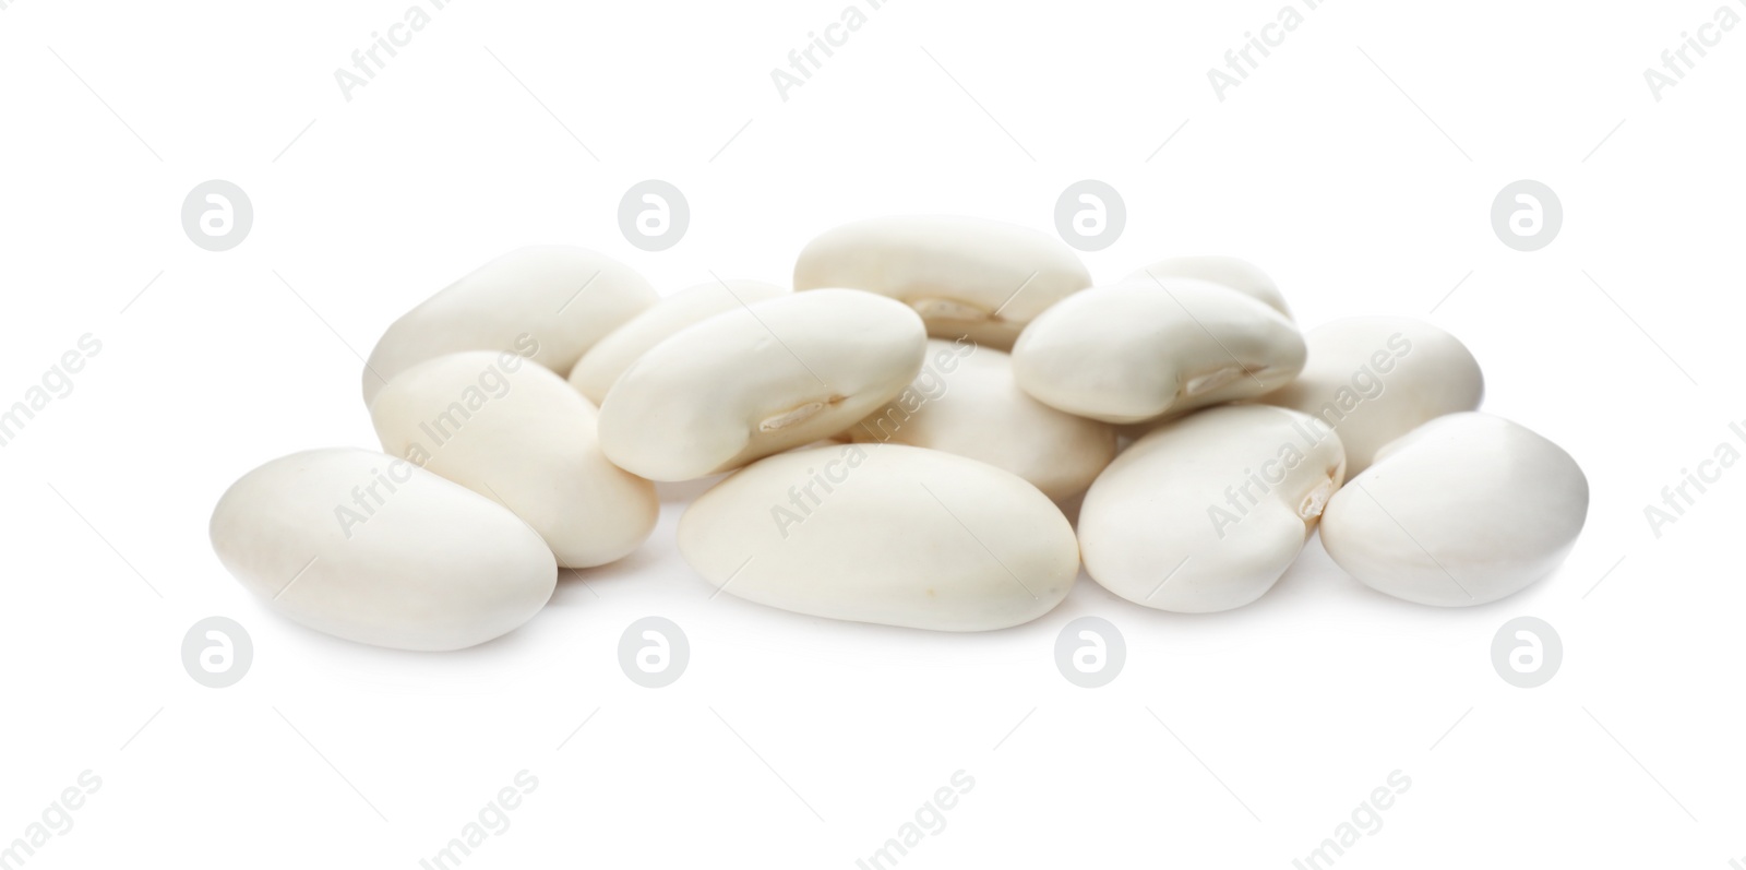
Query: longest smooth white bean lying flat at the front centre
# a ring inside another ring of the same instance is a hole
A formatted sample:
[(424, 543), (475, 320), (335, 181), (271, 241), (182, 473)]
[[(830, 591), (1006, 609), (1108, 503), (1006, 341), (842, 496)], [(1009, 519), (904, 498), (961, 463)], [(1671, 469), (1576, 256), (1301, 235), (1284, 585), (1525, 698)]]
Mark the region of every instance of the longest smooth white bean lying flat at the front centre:
[(938, 631), (1030, 622), (1079, 573), (1072, 526), (1037, 487), (899, 444), (754, 463), (686, 508), (679, 554), (747, 601)]

